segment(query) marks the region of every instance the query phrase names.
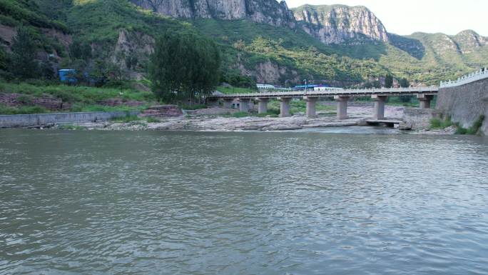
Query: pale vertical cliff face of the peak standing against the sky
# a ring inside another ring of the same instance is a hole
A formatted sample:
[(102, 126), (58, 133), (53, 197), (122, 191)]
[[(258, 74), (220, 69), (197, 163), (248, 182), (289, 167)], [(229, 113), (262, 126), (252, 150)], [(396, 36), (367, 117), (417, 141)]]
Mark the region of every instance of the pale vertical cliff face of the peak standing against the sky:
[(325, 44), (388, 41), (385, 26), (365, 6), (305, 5), (293, 9), (293, 13), (303, 30)]

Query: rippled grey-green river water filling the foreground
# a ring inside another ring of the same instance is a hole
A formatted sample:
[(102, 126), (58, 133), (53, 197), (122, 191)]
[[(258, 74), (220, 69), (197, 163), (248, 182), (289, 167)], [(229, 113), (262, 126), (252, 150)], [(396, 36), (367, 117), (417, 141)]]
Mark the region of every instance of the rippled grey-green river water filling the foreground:
[(0, 130), (0, 274), (487, 274), (488, 141)]

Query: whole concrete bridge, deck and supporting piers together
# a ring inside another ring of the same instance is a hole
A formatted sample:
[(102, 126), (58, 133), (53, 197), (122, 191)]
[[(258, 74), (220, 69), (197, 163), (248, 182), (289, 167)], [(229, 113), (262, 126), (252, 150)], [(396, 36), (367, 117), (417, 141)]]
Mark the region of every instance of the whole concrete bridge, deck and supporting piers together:
[(232, 102), (239, 101), (240, 111), (249, 111), (250, 101), (258, 101), (258, 112), (268, 112), (268, 101), (278, 99), (280, 101), (280, 117), (290, 116), (291, 99), (304, 99), (307, 102), (307, 116), (315, 117), (315, 105), (320, 98), (333, 97), (337, 101), (337, 118), (347, 119), (347, 101), (351, 97), (370, 96), (375, 100), (375, 119), (385, 119), (385, 101), (388, 96), (417, 96), (420, 108), (429, 109), (434, 95), (439, 92), (439, 87), (409, 87), (409, 88), (381, 88), (381, 89), (333, 89), (325, 91), (267, 91), (253, 94), (220, 94), (207, 96), (209, 104), (218, 104), (223, 100), (226, 108), (232, 108)]

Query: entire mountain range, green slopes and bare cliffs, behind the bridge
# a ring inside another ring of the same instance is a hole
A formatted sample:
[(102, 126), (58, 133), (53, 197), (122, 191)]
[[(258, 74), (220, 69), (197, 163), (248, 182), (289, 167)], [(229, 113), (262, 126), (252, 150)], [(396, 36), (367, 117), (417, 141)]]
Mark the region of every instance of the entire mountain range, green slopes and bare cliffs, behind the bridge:
[(0, 0), (0, 11), (0, 44), (6, 51), (16, 27), (28, 25), (40, 55), (54, 53), (59, 66), (73, 66), (68, 46), (82, 41), (92, 49), (88, 65), (129, 56), (136, 79), (144, 78), (154, 41), (166, 31), (212, 38), (229, 77), (282, 85), (308, 79), (350, 86), (385, 74), (438, 84), (488, 66), (488, 39), (474, 31), (399, 36), (388, 33), (364, 6), (288, 9), (275, 0)]

